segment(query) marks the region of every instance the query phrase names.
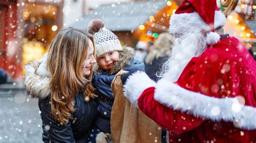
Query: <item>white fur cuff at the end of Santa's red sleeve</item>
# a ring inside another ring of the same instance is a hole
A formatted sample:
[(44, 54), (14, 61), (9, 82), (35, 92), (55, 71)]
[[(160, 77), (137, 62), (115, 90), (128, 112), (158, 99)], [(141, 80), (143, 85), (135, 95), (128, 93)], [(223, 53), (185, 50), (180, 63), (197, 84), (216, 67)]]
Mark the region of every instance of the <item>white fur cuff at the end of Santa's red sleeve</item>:
[(146, 73), (137, 71), (129, 76), (124, 85), (124, 96), (138, 108), (138, 98), (142, 92), (150, 87), (154, 87), (156, 82), (152, 81)]

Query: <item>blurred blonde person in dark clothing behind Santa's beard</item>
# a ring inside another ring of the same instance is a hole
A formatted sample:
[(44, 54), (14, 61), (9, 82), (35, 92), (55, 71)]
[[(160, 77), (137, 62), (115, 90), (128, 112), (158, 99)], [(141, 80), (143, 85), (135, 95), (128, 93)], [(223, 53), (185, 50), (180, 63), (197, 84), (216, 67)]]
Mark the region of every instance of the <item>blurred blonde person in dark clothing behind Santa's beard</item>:
[(157, 81), (157, 71), (170, 58), (173, 42), (174, 40), (171, 34), (167, 32), (161, 33), (154, 43), (153, 48), (147, 54), (145, 71), (152, 80)]

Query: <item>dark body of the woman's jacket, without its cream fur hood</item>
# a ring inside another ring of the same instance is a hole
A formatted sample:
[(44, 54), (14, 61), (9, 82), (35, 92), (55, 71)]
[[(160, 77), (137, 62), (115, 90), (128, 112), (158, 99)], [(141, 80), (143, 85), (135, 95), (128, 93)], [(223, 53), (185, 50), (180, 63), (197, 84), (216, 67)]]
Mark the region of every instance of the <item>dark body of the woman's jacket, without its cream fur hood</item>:
[[(51, 116), (50, 96), (38, 100), (43, 121), (44, 142), (86, 142), (93, 119), (97, 115), (97, 102), (91, 99), (84, 101), (83, 94), (74, 97), (75, 112), (72, 112), (73, 119), (68, 124), (60, 125)], [(50, 128), (49, 128), (50, 127)]]

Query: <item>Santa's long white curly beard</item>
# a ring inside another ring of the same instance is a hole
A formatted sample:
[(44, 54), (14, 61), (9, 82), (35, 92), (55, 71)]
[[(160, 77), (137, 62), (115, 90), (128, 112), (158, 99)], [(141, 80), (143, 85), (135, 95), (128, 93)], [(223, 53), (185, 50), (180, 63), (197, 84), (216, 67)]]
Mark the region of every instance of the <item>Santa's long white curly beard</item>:
[(176, 38), (172, 49), (172, 56), (164, 63), (163, 69), (161, 69), (158, 76), (171, 82), (177, 81), (187, 63), (193, 57), (201, 55), (206, 47), (205, 37), (200, 31)]

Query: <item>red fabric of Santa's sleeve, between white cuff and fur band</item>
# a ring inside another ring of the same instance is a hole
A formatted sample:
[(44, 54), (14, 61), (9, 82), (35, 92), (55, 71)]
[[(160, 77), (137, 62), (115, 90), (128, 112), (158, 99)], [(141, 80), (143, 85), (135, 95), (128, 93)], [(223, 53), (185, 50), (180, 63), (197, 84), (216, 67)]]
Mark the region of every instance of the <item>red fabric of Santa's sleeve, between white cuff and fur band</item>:
[(138, 99), (139, 109), (158, 125), (171, 131), (173, 134), (180, 134), (196, 128), (203, 123), (199, 119), (180, 111), (174, 111), (154, 99), (154, 87), (147, 88), (143, 91)]

